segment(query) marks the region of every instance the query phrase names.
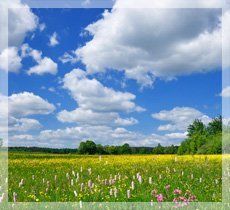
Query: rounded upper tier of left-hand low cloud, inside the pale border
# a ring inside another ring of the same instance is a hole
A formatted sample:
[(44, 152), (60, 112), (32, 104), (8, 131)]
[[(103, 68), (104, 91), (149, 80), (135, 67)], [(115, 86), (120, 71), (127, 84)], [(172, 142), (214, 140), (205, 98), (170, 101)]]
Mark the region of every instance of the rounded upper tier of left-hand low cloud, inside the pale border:
[(9, 114), (20, 118), (29, 115), (50, 114), (55, 106), (40, 96), (29, 92), (12, 94), (8, 98)]

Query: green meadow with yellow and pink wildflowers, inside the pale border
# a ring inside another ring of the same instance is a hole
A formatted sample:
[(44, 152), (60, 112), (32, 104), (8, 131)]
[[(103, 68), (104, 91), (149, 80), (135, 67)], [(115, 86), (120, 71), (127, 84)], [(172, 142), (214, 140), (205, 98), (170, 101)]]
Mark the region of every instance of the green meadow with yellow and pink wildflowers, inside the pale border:
[(221, 201), (221, 155), (9, 153), (13, 201)]

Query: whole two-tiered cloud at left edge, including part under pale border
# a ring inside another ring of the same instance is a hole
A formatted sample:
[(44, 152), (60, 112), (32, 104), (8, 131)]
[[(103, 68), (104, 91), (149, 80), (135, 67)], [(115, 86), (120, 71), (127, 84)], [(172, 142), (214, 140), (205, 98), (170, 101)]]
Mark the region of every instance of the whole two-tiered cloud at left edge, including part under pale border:
[(20, 133), (40, 129), (42, 125), (38, 120), (25, 118), (25, 116), (49, 114), (54, 110), (52, 104), (27, 92), (9, 97), (0, 94), (0, 106), (1, 136), (7, 131)]

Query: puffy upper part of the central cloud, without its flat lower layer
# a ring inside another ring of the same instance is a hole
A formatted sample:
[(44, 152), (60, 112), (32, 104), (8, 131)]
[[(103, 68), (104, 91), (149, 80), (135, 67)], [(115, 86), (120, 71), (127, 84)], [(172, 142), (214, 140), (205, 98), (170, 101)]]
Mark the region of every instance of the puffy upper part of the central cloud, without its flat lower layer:
[(86, 72), (74, 69), (66, 74), (63, 86), (70, 91), (79, 107), (94, 111), (143, 111), (133, 102), (135, 95), (129, 92), (115, 91), (103, 86), (96, 79), (88, 79)]

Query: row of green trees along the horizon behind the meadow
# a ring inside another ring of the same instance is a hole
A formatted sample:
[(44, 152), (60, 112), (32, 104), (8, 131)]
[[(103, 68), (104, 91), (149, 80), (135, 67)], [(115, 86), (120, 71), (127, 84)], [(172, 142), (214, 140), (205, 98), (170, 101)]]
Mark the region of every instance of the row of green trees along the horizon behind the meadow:
[(156, 147), (130, 147), (129, 144), (122, 146), (102, 146), (94, 141), (81, 142), (77, 149), (53, 149), (38, 147), (9, 147), (8, 151), (45, 152), (58, 154), (221, 154), (222, 153), (222, 117), (214, 118), (208, 125), (201, 120), (195, 120), (187, 129), (187, 138), (180, 146)]

